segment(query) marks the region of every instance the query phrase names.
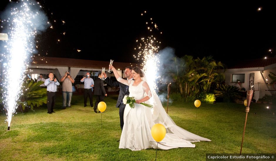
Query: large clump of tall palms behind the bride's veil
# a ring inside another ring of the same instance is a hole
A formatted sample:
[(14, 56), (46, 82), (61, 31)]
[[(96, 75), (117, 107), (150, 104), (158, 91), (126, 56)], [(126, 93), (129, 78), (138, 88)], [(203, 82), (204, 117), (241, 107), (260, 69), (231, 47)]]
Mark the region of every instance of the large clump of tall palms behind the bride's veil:
[[(174, 57), (168, 66), (168, 75), (176, 82), (179, 92), (184, 98), (199, 93), (209, 93), (215, 89), (218, 82), (225, 79), (221, 62), (213, 60), (212, 56), (202, 59), (193, 59), (193, 56), (185, 55), (181, 58)], [(211, 88), (212, 87), (212, 88)]]

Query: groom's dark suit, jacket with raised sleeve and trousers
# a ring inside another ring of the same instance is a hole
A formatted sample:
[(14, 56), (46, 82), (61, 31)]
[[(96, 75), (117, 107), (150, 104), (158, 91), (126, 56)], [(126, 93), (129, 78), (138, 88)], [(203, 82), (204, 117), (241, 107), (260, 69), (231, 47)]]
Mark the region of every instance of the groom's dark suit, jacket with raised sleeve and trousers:
[(116, 107), (119, 107), (119, 115), (120, 115), (120, 124), (121, 124), (121, 129), (123, 130), (123, 126), (124, 126), (124, 108), (126, 107), (126, 105), (123, 104), (123, 98), (125, 95), (129, 95), (129, 86), (128, 85), (124, 85), (123, 83), (120, 83), (118, 81), (113, 82), (112, 80), (110, 80), (110, 78), (105, 78), (105, 81), (108, 85), (112, 86), (112, 87), (120, 87), (120, 93), (119, 93), (119, 97), (117, 100), (117, 104)]

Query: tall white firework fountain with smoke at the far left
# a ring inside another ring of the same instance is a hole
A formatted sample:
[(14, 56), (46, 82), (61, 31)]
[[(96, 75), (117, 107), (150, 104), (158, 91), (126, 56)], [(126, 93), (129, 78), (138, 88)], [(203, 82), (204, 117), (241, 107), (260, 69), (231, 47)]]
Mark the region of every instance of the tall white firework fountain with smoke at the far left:
[[(17, 108), (17, 100), (21, 95), (24, 73), (27, 71), (29, 54), (34, 53), (34, 38), (39, 30), (45, 29), (47, 23), (41, 6), (34, 2), (20, 1), (11, 8), (10, 17), (6, 21), (9, 40), (5, 45), (4, 59), (4, 106), (7, 111), (8, 127)], [(16, 77), (14, 77), (16, 75)], [(9, 128), (8, 128), (9, 129)]]

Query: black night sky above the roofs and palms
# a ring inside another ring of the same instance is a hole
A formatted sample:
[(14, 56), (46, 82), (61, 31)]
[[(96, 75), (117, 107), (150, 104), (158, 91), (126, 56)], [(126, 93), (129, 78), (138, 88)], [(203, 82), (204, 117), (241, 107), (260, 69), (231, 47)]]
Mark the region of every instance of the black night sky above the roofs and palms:
[[(160, 49), (174, 48), (176, 56), (212, 55), (228, 65), (276, 55), (276, 7), (272, 4), (39, 2), (53, 26), (38, 36), (40, 56), (137, 62), (133, 57), (138, 53), (136, 40), (150, 35), (162, 42)], [(10, 2), (0, 3), (3, 11)], [(150, 18), (158, 31), (147, 30)]]

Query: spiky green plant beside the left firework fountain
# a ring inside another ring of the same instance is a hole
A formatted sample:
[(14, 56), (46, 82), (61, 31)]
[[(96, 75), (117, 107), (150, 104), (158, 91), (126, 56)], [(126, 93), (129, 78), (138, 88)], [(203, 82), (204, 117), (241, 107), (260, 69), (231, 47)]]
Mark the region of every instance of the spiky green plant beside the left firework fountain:
[(43, 84), (43, 81), (35, 82), (32, 79), (25, 80), (22, 84), (21, 91), (23, 94), (18, 100), (18, 105), (25, 110), (26, 106), (30, 106), (33, 110), (34, 106), (41, 106), (43, 103), (47, 103), (47, 90), (39, 85)]

